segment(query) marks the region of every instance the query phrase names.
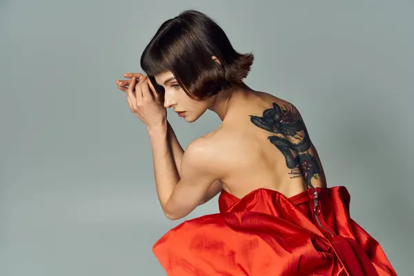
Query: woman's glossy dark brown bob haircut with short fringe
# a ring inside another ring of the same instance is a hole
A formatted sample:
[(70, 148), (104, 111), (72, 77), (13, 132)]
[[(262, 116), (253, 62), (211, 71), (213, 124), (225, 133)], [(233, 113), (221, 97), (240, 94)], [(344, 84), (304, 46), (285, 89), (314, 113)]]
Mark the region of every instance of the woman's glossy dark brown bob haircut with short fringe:
[(163, 101), (164, 88), (154, 76), (166, 71), (172, 72), (190, 98), (203, 100), (240, 83), (253, 59), (251, 52), (236, 52), (213, 19), (185, 10), (161, 24), (141, 55), (141, 68)]

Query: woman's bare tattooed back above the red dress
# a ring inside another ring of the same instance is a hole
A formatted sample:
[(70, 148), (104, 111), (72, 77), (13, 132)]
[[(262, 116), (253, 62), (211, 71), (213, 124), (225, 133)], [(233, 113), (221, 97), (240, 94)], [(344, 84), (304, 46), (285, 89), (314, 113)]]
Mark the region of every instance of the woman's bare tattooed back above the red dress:
[(217, 162), (226, 172), (221, 188), (235, 197), (257, 188), (291, 197), (326, 187), (302, 116), (288, 101), (257, 91), (239, 95), (221, 126), (206, 136), (217, 144)]

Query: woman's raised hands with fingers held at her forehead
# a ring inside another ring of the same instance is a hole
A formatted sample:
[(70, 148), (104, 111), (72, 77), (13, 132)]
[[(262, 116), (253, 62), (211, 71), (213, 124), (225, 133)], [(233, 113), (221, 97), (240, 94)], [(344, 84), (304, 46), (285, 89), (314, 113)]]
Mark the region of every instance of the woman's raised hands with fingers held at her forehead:
[(118, 88), (127, 94), (132, 113), (146, 124), (148, 130), (164, 126), (167, 110), (159, 101), (159, 95), (148, 77), (139, 73), (126, 73), (131, 80), (117, 80)]

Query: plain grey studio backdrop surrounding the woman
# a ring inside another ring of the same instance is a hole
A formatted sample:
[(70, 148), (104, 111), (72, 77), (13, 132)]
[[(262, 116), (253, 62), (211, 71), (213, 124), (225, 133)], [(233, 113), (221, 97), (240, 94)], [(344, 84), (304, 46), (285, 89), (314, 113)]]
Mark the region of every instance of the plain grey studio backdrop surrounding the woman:
[[(0, 1), (0, 275), (165, 275), (146, 128), (116, 79), (159, 25), (195, 8), (241, 52), (246, 80), (302, 112), (328, 186), (399, 275), (412, 267), (412, 1)], [(186, 124), (182, 146), (215, 129)], [(217, 197), (186, 219), (217, 213)]]

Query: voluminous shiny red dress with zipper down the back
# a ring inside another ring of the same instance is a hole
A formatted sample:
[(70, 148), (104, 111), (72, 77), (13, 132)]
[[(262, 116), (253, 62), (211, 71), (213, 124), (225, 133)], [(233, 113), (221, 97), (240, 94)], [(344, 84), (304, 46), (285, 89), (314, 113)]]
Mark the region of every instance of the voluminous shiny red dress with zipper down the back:
[(259, 188), (238, 199), (222, 190), (220, 213), (184, 221), (152, 252), (173, 276), (397, 275), (349, 217), (346, 188), (316, 191), (287, 198)]

